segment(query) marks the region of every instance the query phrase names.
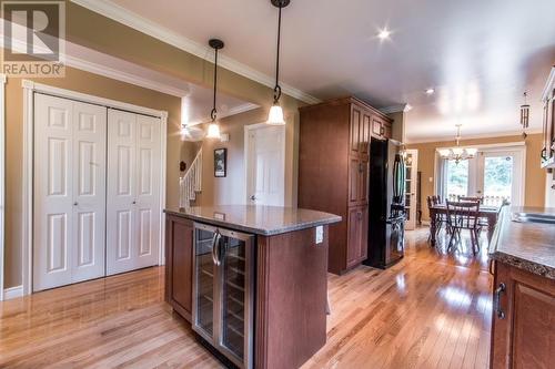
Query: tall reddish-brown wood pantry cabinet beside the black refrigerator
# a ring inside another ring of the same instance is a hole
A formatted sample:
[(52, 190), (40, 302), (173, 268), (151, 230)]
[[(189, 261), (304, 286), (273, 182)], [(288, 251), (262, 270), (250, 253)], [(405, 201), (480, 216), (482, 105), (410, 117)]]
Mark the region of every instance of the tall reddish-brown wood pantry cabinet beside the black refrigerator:
[(392, 121), (355, 98), (300, 112), (299, 207), (343, 217), (330, 226), (329, 254), (329, 270), (342, 274), (367, 257), (370, 142), (389, 139)]

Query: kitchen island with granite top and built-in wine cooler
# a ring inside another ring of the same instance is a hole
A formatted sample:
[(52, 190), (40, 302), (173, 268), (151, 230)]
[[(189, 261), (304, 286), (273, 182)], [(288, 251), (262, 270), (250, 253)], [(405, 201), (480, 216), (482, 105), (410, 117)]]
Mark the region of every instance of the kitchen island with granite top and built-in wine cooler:
[(297, 368), (326, 340), (327, 226), (275, 206), (168, 208), (168, 303), (225, 363)]

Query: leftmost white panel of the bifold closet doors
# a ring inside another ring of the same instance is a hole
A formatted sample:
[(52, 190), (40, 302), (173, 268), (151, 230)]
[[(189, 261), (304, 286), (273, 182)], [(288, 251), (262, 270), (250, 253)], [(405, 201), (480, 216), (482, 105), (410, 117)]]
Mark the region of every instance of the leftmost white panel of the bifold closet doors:
[(71, 284), (72, 102), (36, 94), (33, 290)]

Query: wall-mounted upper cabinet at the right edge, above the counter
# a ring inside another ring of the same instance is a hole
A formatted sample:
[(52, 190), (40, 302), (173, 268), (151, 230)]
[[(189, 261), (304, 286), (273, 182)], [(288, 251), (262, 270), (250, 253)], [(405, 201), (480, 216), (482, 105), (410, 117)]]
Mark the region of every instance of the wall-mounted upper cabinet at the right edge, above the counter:
[(555, 168), (555, 66), (552, 68), (545, 84), (542, 102), (544, 104), (542, 167)]

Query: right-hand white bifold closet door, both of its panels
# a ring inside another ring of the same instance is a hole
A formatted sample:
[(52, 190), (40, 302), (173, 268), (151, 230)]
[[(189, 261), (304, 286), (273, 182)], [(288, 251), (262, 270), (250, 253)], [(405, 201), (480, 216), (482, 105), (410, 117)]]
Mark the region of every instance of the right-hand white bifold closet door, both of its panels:
[(160, 120), (108, 112), (107, 274), (158, 264)]

